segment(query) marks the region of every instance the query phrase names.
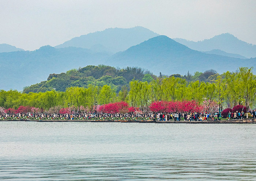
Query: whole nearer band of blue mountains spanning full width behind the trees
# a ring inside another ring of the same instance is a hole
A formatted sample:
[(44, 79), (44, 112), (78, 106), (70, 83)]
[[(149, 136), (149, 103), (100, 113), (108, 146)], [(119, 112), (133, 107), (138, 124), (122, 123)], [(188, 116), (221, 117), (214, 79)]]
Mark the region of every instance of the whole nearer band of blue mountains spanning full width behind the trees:
[[(43, 46), (35, 51), (0, 53), (0, 89), (17, 89), (46, 80), (49, 74), (87, 65), (127, 66), (148, 69), (154, 74), (186, 74), (215, 69), (219, 73), (241, 66), (255, 66), (256, 58), (239, 59), (192, 50), (167, 36), (156, 36), (125, 51), (110, 55), (78, 47)], [(254, 70), (255, 72), (255, 70)], [(75, 78), (75, 77), (74, 77)]]

